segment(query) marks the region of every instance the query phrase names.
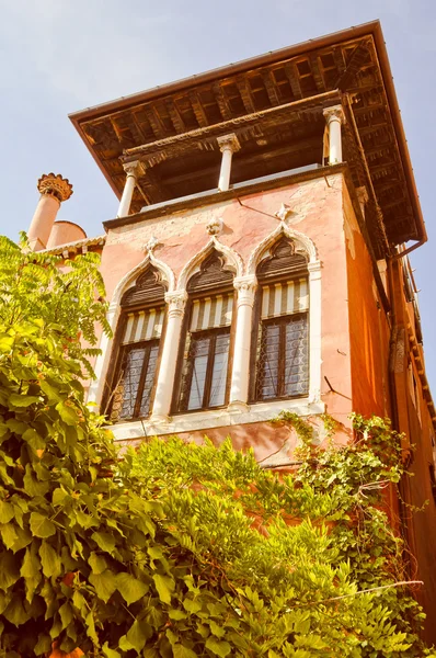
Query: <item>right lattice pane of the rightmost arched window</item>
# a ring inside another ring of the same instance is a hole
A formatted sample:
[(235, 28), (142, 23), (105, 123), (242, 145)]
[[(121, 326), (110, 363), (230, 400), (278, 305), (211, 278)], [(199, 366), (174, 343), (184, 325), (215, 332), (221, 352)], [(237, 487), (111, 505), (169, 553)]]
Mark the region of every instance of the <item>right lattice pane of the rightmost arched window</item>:
[(308, 319), (289, 318), (286, 324), (284, 395), (303, 395), (309, 389)]

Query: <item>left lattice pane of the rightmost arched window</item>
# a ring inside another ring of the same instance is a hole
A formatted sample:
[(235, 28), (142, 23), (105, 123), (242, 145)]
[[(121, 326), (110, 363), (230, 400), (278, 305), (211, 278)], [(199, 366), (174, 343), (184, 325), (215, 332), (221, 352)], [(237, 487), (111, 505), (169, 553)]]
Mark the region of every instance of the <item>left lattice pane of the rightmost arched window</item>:
[(280, 325), (262, 325), (257, 372), (257, 399), (271, 399), (278, 393)]

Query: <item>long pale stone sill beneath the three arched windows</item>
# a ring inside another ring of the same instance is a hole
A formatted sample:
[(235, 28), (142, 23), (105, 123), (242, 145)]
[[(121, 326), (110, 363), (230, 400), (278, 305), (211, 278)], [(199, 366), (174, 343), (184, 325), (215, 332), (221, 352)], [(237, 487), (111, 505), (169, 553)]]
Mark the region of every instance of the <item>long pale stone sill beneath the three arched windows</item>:
[(231, 428), (237, 424), (271, 421), (283, 410), (292, 411), (298, 416), (315, 416), (325, 411), (321, 401), (311, 402), (309, 398), (295, 400), (276, 400), (274, 402), (257, 402), (246, 407), (246, 410), (216, 409), (173, 416), (168, 422), (152, 422), (151, 419), (119, 422), (107, 429), (114, 433), (115, 441), (128, 441), (144, 436), (163, 436), (181, 434), (213, 428)]

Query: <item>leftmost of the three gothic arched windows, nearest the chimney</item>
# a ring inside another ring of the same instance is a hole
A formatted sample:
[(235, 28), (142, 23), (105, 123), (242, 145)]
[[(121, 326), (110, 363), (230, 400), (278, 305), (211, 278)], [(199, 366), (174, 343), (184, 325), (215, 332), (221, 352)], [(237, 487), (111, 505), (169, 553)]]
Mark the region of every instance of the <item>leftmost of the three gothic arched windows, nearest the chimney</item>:
[(122, 297), (115, 339), (118, 353), (110, 373), (105, 405), (112, 421), (145, 418), (150, 412), (165, 314), (164, 294), (160, 273), (149, 266)]

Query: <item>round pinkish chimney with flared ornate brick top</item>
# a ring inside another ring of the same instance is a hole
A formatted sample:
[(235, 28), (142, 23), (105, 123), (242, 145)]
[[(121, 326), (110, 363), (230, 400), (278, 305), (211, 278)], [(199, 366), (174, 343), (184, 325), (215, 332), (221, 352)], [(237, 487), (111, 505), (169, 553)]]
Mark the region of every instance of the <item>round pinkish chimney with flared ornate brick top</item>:
[(32, 251), (46, 249), (60, 204), (72, 194), (71, 183), (60, 173), (44, 173), (37, 188), (41, 196), (27, 232)]

